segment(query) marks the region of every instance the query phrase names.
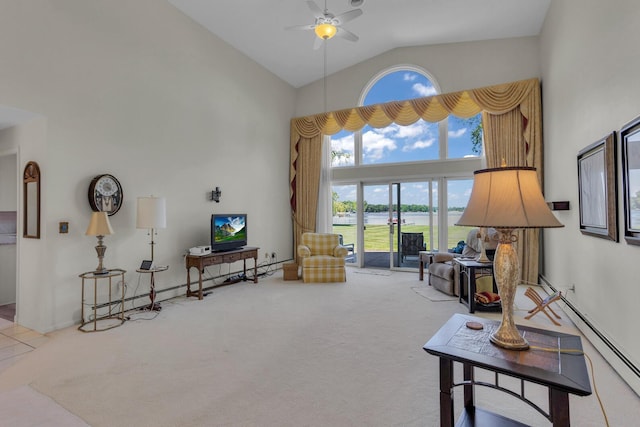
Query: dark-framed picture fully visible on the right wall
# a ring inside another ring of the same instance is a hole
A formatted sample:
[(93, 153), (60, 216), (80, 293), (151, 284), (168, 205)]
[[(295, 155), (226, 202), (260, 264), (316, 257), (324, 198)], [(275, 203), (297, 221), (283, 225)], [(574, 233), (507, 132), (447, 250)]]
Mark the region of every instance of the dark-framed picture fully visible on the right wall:
[(578, 153), (578, 201), (582, 234), (618, 241), (616, 176), (615, 132)]

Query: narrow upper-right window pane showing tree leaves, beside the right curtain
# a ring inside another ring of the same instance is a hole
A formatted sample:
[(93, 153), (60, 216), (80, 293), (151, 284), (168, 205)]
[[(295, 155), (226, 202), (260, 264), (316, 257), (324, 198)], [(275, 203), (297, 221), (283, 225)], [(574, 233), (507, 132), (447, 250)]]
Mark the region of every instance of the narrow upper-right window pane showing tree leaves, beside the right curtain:
[(478, 157), (482, 154), (482, 116), (468, 119), (449, 116), (448, 157)]

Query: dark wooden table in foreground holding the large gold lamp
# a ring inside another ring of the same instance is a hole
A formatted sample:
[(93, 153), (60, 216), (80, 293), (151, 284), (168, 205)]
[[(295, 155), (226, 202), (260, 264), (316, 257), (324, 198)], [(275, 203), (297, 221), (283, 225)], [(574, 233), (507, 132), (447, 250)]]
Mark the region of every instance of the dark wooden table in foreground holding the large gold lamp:
[[(467, 327), (480, 323), (481, 330)], [(453, 387), (464, 387), (464, 410), (459, 426), (524, 426), (504, 416), (476, 408), (474, 387), (485, 386), (510, 394), (546, 417), (553, 426), (569, 426), (569, 393), (591, 394), (589, 373), (577, 335), (518, 325), (529, 341), (525, 351), (507, 350), (492, 344), (489, 336), (499, 322), (465, 314), (454, 314), (424, 345), (424, 350), (440, 358), (440, 426), (453, 426)], [(561, 351), (564, 350), (564, 351)], [(463, 381), (454, 383), (453, 363), (462, 363)], [(477, 381), (474, 368), (495, 372), (494, 383)], [(498, 374), (520, 380), (520, 393), (500, 385)], [(549, 407), (545, 412), (525, 395), (525, 383), (547, 387)]]

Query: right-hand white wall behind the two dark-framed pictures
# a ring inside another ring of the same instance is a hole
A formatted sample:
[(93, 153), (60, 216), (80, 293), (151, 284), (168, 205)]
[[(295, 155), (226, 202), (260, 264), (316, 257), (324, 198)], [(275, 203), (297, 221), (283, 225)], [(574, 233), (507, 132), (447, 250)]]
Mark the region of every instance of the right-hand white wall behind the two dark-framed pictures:
[[(575, 285), (575, 292), (565, 292), (566, 297), (635, 366), (640, 366), (636, 328), (640, 293), (635, 268), (640, 247), (624, 241), (620, 169), (620, 242), (583, 236), (576, 157), (581, 149), (640, 115), (639, 20), (635, 0), (554, 0), (540, 44), (546, 196), (571, 202), (570, 211), (558, 213), (565, 227), (544, 232), (544, 274), (560, 290)], [(619, 149), (618, 144), (620, 168)], [(599, 349), (607, 354), (603, 346)], [(608, 360), (624, 372), (617, 357)], [(622, 376), (640, 390), (636, 375)]]

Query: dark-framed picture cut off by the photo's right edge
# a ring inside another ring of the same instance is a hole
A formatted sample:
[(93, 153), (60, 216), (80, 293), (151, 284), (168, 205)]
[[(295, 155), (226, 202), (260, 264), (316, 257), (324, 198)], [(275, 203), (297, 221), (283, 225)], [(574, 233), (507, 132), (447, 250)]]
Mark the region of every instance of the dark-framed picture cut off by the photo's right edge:
[(640, 117), (620, 131), (624, 187), (624, 239), (640, 245)]

